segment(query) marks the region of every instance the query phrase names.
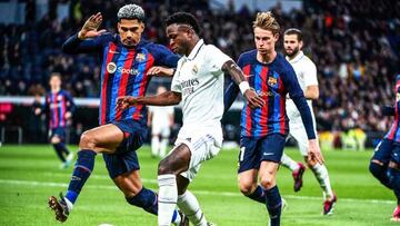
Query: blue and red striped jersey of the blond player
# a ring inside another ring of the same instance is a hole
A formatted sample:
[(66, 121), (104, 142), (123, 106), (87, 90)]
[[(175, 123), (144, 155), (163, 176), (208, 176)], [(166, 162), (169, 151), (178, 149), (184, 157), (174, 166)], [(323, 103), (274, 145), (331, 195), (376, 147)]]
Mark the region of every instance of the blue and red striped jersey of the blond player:
[[(294, 70), (281, 55), (277, 55), (271, 63), (266, 65), (257, 60), (257, 50), (251, 50), (239, 57), (238, 66), (243, 70), (250, 87), (266, 102), (263, 107), (257, 109), (251, 109), (244, 104), (240, 120), (241, 136), (287, 135), (289, 131), (289, 119), (286, 115), (287, 94), (300, 107), (300, 114), (304, 112), (302, 115), (310, 119), (307, 120), (306, 128), (310, 126), (309, 124), (312, 128), (312, 119), (307, 117), (307, 115), (311, 117), (310, 109)], [(232, 81), (224, 94), (226, 110), (231, 106), (238, 92), (239, 88)], [(313, 131), (308, 130), (308, 135), (310, 135), (309, 138), (314, 138)]]

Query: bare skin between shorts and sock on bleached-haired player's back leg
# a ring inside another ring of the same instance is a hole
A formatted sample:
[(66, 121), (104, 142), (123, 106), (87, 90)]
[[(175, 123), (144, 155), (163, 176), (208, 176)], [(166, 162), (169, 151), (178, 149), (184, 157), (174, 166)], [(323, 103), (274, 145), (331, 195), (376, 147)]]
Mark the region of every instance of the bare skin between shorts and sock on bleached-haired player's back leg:
[(112, 180), (126, 197), (134, 196), (142, 189), (139, 169), (121, 174)]

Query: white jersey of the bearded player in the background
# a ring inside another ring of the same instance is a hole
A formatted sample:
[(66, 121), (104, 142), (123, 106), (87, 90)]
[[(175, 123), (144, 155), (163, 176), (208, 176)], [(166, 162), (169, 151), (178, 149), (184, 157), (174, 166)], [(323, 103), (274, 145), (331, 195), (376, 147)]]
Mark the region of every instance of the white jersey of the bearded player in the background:
[[(286, 59), (293, 67), (299, 85), (303, 91), (306, 91), (308, 86), (318, 86), (317, 67), (312, 62), (312, 60), (308, 58), (302, 51), (299, 51), (299, 53), (291, 60), (289, 59), (289, 57), (286, 57)], [(307, 104), (310, 107), (312, 120), (314, 121), (316, 127), (316, 118), (312, 111), (312, 100), (307, 100)], [(297, 109), (293, 100), (288, 99), (286, 101), (286, 107), (287, 115), (290, 120), (289, 122), (302, 124), (300, 112)]]

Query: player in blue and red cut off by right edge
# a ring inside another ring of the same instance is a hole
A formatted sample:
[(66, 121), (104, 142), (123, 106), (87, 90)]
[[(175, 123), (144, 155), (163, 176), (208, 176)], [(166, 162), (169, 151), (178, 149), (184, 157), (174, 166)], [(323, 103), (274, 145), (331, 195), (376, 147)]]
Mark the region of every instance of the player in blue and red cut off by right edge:
[(383, 115), (394, 116), (394, 121), (377, 146), (369, 169), (382, 185), (394, 191), (398, 206), (391, 220), (400, 222), (400, 75), (396, 77), (394, 94), (394, 107), (383, 108)]

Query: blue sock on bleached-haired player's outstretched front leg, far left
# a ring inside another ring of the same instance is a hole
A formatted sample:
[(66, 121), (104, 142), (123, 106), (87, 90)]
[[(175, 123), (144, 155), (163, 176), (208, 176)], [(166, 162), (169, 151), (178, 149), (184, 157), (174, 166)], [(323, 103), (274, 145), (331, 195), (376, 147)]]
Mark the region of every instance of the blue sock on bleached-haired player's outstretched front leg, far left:
[(78, 151), (78, 159), (73, 168), (71, 181), (68, 186), (66, 197), (72, 204), (76, 203), (79, 193), (81, 191), (84, 183), (88, 180), (94, 167), (96, 153), (89, 149)]

